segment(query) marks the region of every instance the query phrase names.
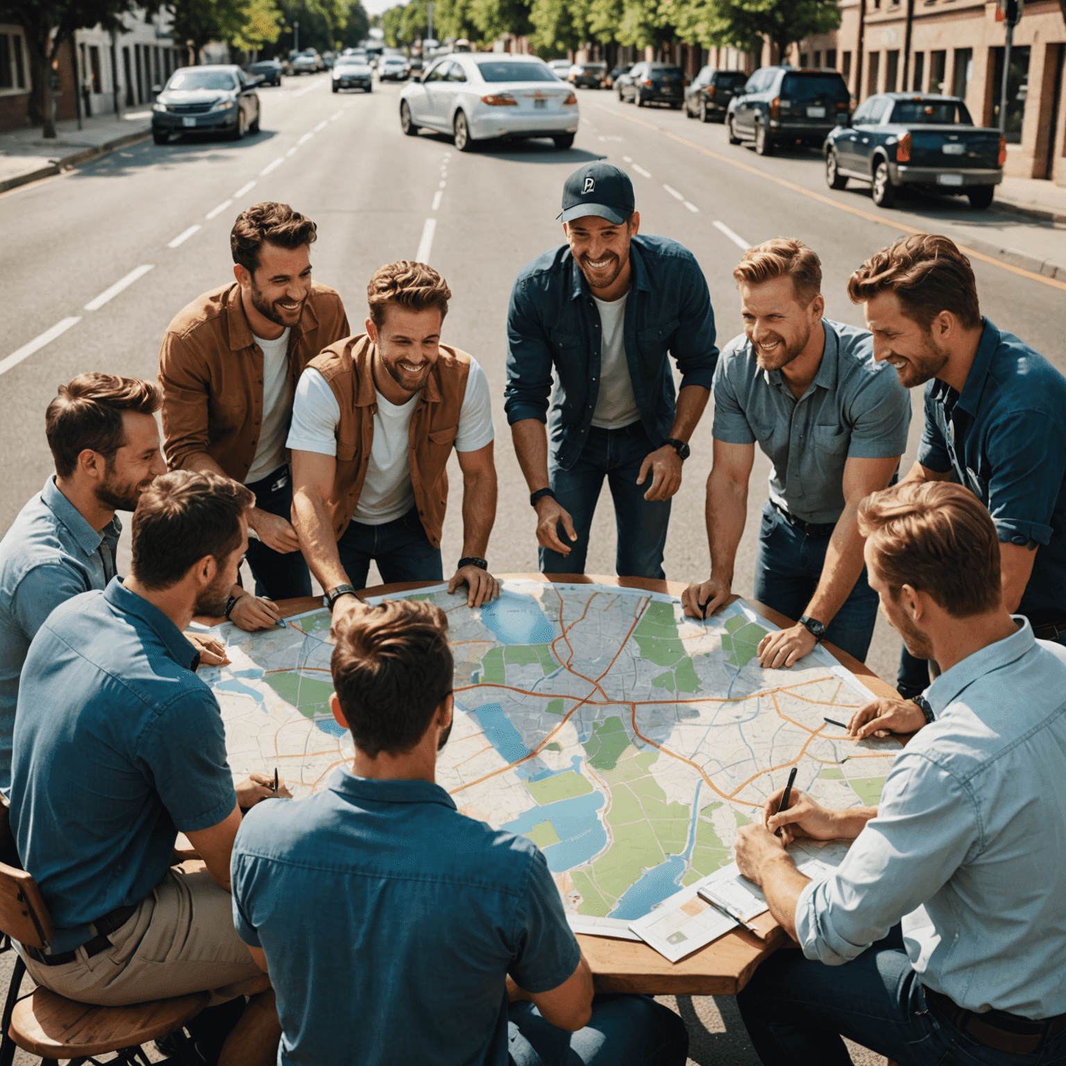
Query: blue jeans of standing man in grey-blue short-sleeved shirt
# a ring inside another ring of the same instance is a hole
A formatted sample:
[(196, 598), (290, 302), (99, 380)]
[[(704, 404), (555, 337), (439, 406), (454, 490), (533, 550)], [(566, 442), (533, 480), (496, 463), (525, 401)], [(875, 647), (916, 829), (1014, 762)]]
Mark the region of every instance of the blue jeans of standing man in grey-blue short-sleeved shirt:
[[(809, 537), (778, 514), (768, 500), (762, 507), (759, 553), (755, 560), (755, 598), (793, 621), (807, 610), (825, 564), (829, 537)], [(877, 594), (867, 581), (866, 567), (833, 621), (825, 639), (866, 661), (877, 620)]]

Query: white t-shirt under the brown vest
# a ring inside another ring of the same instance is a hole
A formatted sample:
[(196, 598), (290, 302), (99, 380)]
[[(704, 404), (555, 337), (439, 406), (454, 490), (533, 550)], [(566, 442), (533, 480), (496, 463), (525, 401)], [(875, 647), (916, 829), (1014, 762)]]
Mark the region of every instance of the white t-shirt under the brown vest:
[[(399, 406), (377, 393), (374, 442), (370, 465), (355, 507), (355, 521), (384, 526), (403, 517), (415, 505), (410, 484), (410, 417), (418, 393)], [(312, 367), (301, 374), (292, 404), (289, 448), (319, 455), (337, 454), (337, 425), (340, 405), (329, 383)], [(492, 430), (492, 399), (488, 378), (477, 359), (470, 360), (467, 389), (459, 409), (455, 451), (475, 452), (496, 436)]]

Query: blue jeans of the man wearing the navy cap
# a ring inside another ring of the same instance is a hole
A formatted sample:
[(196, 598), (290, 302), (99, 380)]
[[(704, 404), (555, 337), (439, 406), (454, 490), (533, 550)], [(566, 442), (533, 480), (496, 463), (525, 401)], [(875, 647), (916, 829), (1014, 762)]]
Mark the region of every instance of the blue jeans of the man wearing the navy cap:
[[(543, 574), (584, 574), (588, 554), (588, 531), (592, 529), (596, 501), (607, 478), (614, 500), (618, 550), (615, 569), (624, 578), (659, 578), (663, 574), (663, 551), (666, 527), (669, 524), (671, 501), (649, 502), (644, 494), (651, 485), (648, 474), (643, 485), (636, 484), (641, 464), (655, 451), (644, 426), (633, 422), (623, 430), (599, 430), (593, 426), (581, 456), (569, 470), (548, 458), (548, 483), (559, 505), (570, 513), (574, 531), (578, 534), (569, 555), (551, 548), (540, 549)], [(559, 538), (569, 544), (563, 527)]]

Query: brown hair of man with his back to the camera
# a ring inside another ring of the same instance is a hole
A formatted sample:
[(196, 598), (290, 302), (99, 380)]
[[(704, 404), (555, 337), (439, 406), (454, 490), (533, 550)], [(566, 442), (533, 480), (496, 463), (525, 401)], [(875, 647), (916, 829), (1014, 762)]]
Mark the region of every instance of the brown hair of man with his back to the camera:
[(371, 759), (409, 752), (452, 691), (448, 616), (425, 600), (385, 600), (349, 616), (330, 665), (355, 746)]

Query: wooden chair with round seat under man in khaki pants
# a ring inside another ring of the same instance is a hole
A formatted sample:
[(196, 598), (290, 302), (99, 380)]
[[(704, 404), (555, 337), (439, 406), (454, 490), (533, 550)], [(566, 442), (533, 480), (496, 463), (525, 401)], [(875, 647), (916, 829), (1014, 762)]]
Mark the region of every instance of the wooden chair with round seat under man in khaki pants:
[[(11, 839), (6, 803), (0, 803), (0, 846)], [(41, 898), (37, 883), (25, 870), (0, 862), (0, 932), (18, 943), (45, 950), (55, 928)], [(132, 1003), (128, 1006), (92, 1006), (37, 987), (19, 996), (26, 964), (15, 962), (4, 1003), (0, 1066), (11, 1066), (16, 1045), (39, 1055), (45, 1066), (68, 1059), (70, 1066), (96, 1063), (97, 1055), (114, 1054), (122, 1066), (150, 1066), (143, 1044), (168, 1033), (184, 1062), (196, 1061), (181, 1027), (207, 1005), (209, 992)]]

